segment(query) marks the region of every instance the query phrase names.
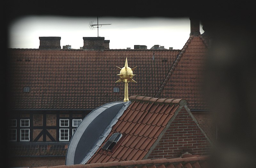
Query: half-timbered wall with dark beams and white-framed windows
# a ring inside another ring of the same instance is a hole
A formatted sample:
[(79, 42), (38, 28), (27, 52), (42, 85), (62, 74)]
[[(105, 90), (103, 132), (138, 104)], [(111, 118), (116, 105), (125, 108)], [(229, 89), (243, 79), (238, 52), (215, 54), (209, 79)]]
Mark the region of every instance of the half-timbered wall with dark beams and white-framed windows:
[(12, 142), (67, 142), (89, 111), (16, 111), (9, 118)]

